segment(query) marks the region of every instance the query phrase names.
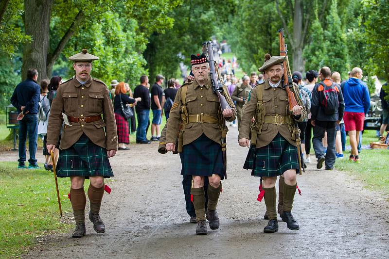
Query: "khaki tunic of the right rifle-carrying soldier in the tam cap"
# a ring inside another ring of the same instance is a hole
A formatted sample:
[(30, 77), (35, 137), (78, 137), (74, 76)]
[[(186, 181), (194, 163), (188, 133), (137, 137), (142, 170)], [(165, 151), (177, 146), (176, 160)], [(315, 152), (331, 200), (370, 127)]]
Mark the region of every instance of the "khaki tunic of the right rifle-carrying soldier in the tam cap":
[[(286, 90), (282, 88), (281, 83), (277, 87), (271, 87), (269, 81), (266, 80), (262, 83), (264, 87), (263, 91), (263, 104), (266, 116), (286, 116), (289, 114), (289, 103), (288, 95)], [(252, 117), (256, 117), (256, 108), (257, 108), (257, 87), (256, 85), (248, 98), (248, 101), (245, 105), (245, 110), (242, 116), (241, 126), (239, 128), (239, 139), (246, 138), (249, 139), (250, 133), (250, 123)], [(306, 118), (307, 113), (305, 107), (301, 101), (300, 95), (296, 94), (296, 89), (298, 91), (298, 86), (295, 85), (293, 88), (290, 88), (294, 93), (297, 102), (300, 106), (303, 107), (302, 114), (297, 121), (303, 121)], [(293, 116), (294, 117), (294, 116)], [(294, 123), (293, 123), (294, 124)], [(293, 126), (294, 128), (294, 126)], [(291, 145), (297, 146), (296, 140), (292, 139), (292, 131), (289, 129), (287, 124), (277, 125), (271, 123), (264, 123), (262, 125), (261, 133), (258, 134), (256, 140), (256, 148), (267, 146), (275, 136), (280, 133)]]

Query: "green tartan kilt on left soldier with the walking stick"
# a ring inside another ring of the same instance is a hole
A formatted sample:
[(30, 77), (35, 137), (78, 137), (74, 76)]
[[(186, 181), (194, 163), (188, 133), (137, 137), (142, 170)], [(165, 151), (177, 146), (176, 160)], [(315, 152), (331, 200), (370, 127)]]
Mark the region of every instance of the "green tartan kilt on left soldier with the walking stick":
[(85, 134), (68, 149), (59, 150), (57, 177), (113, 177), (106, 149), (94, 144)]

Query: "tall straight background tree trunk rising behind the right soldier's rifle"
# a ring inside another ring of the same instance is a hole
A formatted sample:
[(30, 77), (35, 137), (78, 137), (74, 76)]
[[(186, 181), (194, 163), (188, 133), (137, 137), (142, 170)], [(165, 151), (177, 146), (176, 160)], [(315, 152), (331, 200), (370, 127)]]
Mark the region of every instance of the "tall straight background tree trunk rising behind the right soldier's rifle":
[(293, 16), (293, 70), (302, 72), (304, 64), (302, 62), (303, 30), (302, 30), (302, 0), (295, 0)]

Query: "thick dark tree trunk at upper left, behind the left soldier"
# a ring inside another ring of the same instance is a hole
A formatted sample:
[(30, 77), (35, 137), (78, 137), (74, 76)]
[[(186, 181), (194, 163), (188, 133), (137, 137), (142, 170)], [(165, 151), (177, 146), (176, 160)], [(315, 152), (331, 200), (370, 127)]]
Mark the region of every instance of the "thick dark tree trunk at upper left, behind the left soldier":
[(27, 78), (27, 70), (35, 68), (38, 80), (49, 78), (47, 74), (47, 54), (50, 48), (50, 17), (53, 0), (24, 0), (24, 26), (26, 34), (32, 37), (23, 49), (22, 80)]

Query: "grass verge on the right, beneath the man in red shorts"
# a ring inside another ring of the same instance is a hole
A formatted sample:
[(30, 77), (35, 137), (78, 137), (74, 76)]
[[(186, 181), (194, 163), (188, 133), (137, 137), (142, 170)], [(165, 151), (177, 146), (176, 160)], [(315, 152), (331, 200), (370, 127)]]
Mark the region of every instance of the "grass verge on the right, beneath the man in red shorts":
[[(362, 145), (369, 145), (377, 142), (375, 130), (365, 130), (362, 138)], [(347, 144), (350, 145), (347, 136)], [(388, 149), (362, 149), (359, 157), (361, 163), (348, 161), (350, 150), (344, 152), (343, 160), (336, 160), (335, 168), (346, 171), (359, 178), (366, 188), (378, 190), (389, 195), (389, 150)]]

